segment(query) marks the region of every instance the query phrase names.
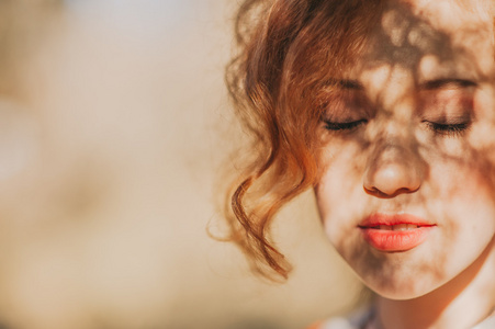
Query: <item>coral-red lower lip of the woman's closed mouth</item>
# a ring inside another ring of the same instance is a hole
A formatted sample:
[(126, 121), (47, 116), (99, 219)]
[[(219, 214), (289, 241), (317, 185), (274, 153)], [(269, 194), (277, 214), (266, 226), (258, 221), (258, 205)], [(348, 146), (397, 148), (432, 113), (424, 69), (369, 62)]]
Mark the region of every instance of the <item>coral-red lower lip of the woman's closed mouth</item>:
[(407, 251), (421, 245), (432, 226), (421, 226), (409, 230), (385, 230), (361, 227), (364, 240), (380, 251)]

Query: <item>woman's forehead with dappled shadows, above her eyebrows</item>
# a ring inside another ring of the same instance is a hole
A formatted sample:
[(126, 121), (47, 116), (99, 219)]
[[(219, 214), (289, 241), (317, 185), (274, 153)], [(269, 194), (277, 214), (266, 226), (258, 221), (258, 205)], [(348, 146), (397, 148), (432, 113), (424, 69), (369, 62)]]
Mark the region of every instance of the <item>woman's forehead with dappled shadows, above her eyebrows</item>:
[(409, 70), (418, 79), (493, 75), (494, 15), (491, 1), (390, 0), (351, 70), (384, 65)]

